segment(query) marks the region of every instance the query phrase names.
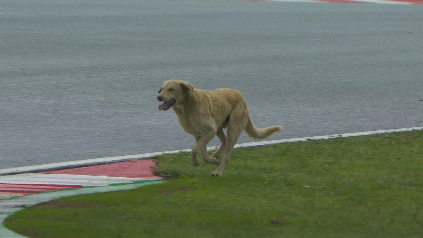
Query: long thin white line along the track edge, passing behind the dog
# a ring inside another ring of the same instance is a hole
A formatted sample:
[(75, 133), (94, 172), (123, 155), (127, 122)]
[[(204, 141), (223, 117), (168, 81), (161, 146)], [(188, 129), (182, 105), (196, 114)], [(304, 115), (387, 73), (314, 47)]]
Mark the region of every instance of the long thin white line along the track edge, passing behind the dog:
[[(346, 133), (346, 134), (333, 134), (333, 135), (317, 136), (317, 137), (302, 137), (302, 138), (283, 139), (283, 140), (249, 142), (249, 143), (236, 144), (234, 148), (246, 148), (246, 147), (255, 147), (259, 145), (272, 145), (272, 144), (299, 142), (299, 141), (307, 141), (307, 140), (326, 140), (326, 139), (331, 139), (335, 137), (355, 137), (355, 136), (366, 136), (366, 135), (374, 135), (374, 134), (385, 134), (385, 133), (394, 133), (394, 132), (402, 132), (402, 131), (417, 131), (417, 130), (423, 130), (423, 126), (390, 129), (390, 130), (379, 130), (379, 131), (363, 131), (363, 132)], [(211, 147), (207, 147), (207, 150), (209, 151), (216, 150), (217, 148), (218, 146), (211, 146)], [(160, 156), (163, 154), (174, 154), (174, 153), (190, 152), (190, 151), (191, 149), (169, 150), (169, 151), (163, 151), (163, 152), (154, 152), (154, 153), (127, 155), (127, 156), (113, 156), (113, 157), (104, 157), (104, 158), (98, 158), (98, 159), (85, 159), (85, 160), (78, 160), (78, 161), (17, 167), (17, 168), (0, 170), (0, 175), (19, 174), (19, 173), (26, 173), (26, 172), (41, 172), (41, 171), (47, 171), (47, 170), (59, 170), (59, 169), (66, 169), (66, 168), (88, 166), (93, 164), (107, 164), (107, 163), (121, 162), (121, 161), (135, 160), (135, 159), (146, 159), (146, 158), (151, 158), (154, 156)]]

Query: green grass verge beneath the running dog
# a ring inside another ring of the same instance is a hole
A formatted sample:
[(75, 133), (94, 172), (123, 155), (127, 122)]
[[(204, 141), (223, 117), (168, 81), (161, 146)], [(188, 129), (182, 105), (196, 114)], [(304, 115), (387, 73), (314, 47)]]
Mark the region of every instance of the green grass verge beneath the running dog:
[(189, 153), (156, 159), (168, 183), (47, 202), (5, 226), (40, 238), (423, 237), (423, 131), (236, 149), (220, 178)]

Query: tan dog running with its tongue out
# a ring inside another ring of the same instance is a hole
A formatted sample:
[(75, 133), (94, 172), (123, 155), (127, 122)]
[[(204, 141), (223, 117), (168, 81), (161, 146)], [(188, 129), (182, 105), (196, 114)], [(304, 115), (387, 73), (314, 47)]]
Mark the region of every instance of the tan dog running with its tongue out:
[[(219, 165), (211, 176), (222, 175), (229, 163), (233, 146), (243, 130), (254, 139), (264, 139), (282, 130), (281, 126), (264, 129), (255, 127), (244, 96), (234, 89), (220, 88), (206, 91), (194, 88), (189, 82), (169, 80), (160, 88), (157, 100), (164, 101), (159, 105), (159, 110), (166, 111), (172, 108), (184, 131), (195, 137), (197, 144), (191, 150), (192, 163), (195, 166), (200, 165), (197, 158), (200, 151), (204, 162)], [(224, 128), (228, 128), (228, 137), (223, 133)], [(216, 135), (222, 145), (209, 157), (207, 144)], [(220, 162), (218, 158), (223, 150), (225, 155)]]

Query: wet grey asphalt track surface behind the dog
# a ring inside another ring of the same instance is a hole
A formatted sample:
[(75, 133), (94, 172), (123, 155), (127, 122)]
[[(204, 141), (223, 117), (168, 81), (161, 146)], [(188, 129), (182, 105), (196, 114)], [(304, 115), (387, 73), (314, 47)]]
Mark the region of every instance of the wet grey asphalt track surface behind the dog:
[(271, 140), (422, 126), (422, 10), (0, 0), (0, 169), (190, 148), (168, 79), (241, 90)]

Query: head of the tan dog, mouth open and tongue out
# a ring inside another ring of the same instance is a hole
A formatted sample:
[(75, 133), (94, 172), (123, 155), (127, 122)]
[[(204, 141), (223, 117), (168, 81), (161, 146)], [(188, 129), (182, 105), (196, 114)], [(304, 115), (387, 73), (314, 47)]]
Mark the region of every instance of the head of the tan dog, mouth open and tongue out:
[(167, 111), (184, 103), (191, 90), (194, 90), (194, 87), (189, 82), (182, 80), (166, 81), (159, 90), (159, 96), (157, 96), (157, 100), (164, 102), (159, 105), (159, 110)]

